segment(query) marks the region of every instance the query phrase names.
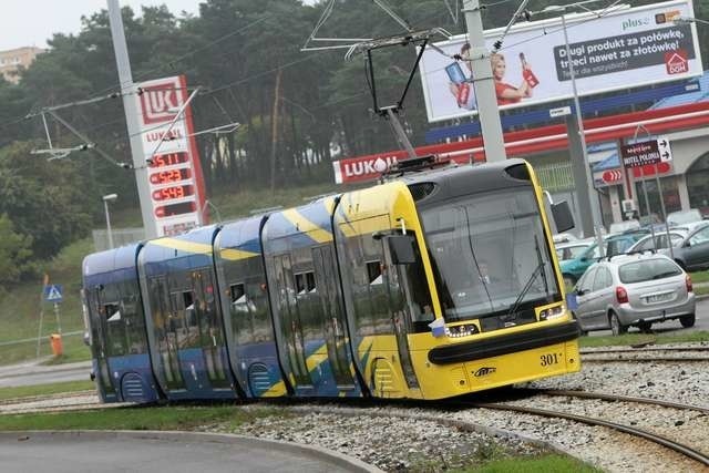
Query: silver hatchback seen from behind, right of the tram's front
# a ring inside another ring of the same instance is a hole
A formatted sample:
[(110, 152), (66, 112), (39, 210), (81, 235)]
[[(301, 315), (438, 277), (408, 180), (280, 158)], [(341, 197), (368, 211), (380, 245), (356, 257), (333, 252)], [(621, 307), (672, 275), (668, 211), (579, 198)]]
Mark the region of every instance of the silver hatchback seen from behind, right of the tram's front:
[[(610, 328), (614, 335), (635, 326), (679, 319), (695, 325), (695, 292), (684, 269), (664, 255), (619, 255), (589, 267), (575, 287), (569, 307), (584, 332)], [(576, 307), (575, 307), (576, 306)]]

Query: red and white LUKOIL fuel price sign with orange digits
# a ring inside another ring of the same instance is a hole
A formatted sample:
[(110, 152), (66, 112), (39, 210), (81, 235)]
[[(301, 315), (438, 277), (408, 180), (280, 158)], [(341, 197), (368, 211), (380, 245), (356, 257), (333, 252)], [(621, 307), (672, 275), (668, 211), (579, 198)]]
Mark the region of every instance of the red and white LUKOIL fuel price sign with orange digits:
[[(157, 236), (172, 236), (203, 224), (204, 178), (193, 136), (183, 75), (136, 84), (138, 123)], [(174, 123), (173, 123), (174, 121)]]

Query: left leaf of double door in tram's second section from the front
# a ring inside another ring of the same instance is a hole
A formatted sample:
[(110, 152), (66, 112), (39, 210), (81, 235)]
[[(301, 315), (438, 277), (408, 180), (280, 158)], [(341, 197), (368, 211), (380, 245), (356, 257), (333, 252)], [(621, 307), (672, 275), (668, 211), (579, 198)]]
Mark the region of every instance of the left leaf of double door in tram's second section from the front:
[(296, 302), (296, 289), (289, 255), (274, 257), (276, 269), (276, 290), (278, 317), (280, 318), (281, 340), (286, 345), (288, 364), (296, 385), (312, 385), (308, 366), (306, 364), (306, 350), (302, 337), (302, 323)]

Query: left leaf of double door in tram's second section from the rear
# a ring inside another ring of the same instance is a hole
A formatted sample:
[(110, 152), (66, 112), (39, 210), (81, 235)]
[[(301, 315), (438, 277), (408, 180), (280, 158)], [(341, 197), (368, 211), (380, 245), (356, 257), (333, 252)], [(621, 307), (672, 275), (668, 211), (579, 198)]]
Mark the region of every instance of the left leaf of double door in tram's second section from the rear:
[(157, 346), (158, 372), (165, 383), (163, 388), (168, 391), (185, 389), (177, 354), (178, 337), (184, 327), (182, 327), (177, 315), (177, 308), (174, 307), (171, 300), (165, 278), (151, 279), (148, 281), (148, 294), (155, 343)]

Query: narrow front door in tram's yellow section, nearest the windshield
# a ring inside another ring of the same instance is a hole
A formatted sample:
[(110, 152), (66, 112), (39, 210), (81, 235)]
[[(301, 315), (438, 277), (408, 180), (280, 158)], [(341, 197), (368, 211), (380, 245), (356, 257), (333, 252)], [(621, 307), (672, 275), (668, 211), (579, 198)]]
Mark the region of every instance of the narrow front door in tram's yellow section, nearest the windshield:
[[(386, 241), (387, 238), (382, 238)], [(387, 248), (388, 249), (388, 248)], [(388, 289), (389, 289), (389, 307), (393, 318), (394, 335), (397, 336), (397, 347), (399, 349), (399, 359), (401, 360), (401, 369), (409, 388), (419, 388), (417, 374), (413, 371), (413, 361), (411, 360), (411, 351), (409, 350), (409, 332), (411, 331), (411, 308), (408, 300), (410, 295), (407, 294), (405, 277), (402, 275), (401, 266), (394, 265), (391, 259), (391, 251), (386, 250), (384, 264), (389, 268), (387, 270)], [(409, 297), (407, 297), (409, 296)]]

